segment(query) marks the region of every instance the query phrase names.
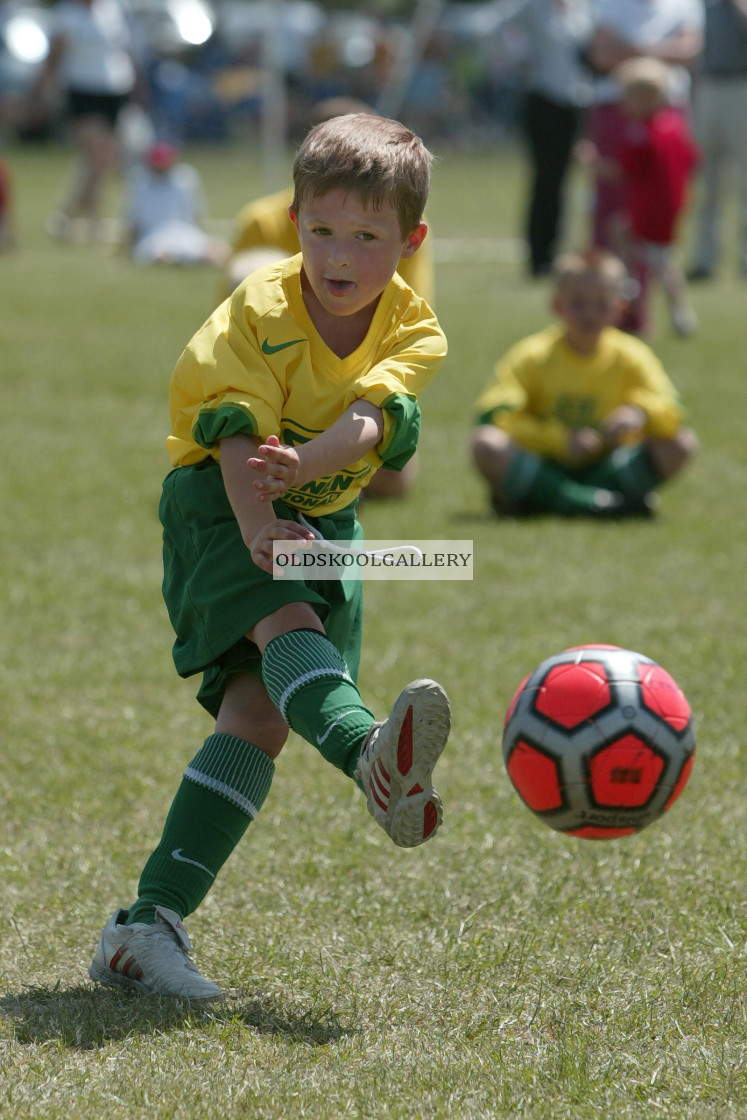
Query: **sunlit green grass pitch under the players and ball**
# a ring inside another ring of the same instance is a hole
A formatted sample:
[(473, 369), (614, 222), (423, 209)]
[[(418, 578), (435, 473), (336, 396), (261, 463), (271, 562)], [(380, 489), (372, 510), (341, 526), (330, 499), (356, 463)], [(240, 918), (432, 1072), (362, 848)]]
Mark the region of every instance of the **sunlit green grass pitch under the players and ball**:
[[(252, 153), (189, 155), (217, 217), (261, 189)], [(423, 399), (414, 493), (363, 520), (377, 539), (474, 539), (476, 577), (367, 585), (362, 689), (384, 712), (412, 676), (447, 688), (446, 822), (422, 850), (394, 849), (292, 738), (188, 923), (198, 965), (230, 992), (197, 1010), (94, 989), (86, 969), (211, 730), (170, 662), (156, 507), (168, 377), (217, 278), (48, 242), (66, 161), (10, 152), (21, 250), (0, 258), (3, 1120), (747, 1116), (736, 262), (694, 292), (693, 339), (657, 309), (654, 345), (702, 444), (661, 517), (498, 522), (467, 461), (471, 405), (501, 353), (548, 321), (548, 289), (516, 260), (521, 161), (441, 157), (429, 215), (450, 355)], [(571, 236), (583, 203), (579, 181)], [(583, 642), (660, 661), (698, 724), (680, 801), (618, 842), (536, 822), (501, 756), (519, 681)]]

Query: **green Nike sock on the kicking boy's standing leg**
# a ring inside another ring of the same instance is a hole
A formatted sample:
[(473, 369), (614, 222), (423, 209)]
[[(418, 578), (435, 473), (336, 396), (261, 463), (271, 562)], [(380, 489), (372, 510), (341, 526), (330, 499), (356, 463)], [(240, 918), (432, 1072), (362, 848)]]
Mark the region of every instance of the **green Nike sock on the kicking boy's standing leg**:
[(216, 875), (268, 795), (274, 763), (232, 735), (211, 735), (184, 774), (160, 843), (146, 864), (127, 924), (152, 923), (156, 906), (186, 917), (197, 909)]

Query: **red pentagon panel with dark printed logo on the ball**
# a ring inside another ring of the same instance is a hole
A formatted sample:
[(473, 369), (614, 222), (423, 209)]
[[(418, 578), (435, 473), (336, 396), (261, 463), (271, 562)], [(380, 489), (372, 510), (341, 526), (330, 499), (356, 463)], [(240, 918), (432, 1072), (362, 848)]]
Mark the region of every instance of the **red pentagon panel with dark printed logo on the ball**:
[(656, 790), (664, 759), (635, 735), (624, 735), (597, 750), (589, 768), (598, 805), (639, 809)]

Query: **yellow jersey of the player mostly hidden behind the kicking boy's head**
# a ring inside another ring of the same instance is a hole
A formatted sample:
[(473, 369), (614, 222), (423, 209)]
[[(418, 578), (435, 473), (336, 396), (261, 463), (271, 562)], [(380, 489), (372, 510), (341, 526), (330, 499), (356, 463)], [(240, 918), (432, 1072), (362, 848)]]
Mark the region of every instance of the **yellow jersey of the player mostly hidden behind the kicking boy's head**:
[[(292, 255), (298, 252), (298, 234), (288, 216), (288, 207), (293, 200), (293, 192), (279, 190), (249, 203), (239, 212), (236, 233), (232, 248), (233, 255), (250, 249), (280, 249)], [(433, 254), (430, 233), (417, 253), (405, 256), (396, 271), (413, 291), (429, 304), (433, 302)], [(227, 295), (227, 290), (225, 295)]]

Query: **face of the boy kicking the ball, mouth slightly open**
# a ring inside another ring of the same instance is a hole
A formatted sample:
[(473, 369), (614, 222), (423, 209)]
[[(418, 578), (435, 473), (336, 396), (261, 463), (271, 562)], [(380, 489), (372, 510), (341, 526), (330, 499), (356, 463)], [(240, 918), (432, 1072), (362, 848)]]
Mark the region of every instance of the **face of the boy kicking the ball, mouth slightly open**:
[(330, 315), (355, 315), (381, 296), (401, 256), (412, 256), (426, 236), (420, 223), (403, 237), (396, 211), (366, 207), (353, 190), (334, 189), (290, 209), (311, 290)]

